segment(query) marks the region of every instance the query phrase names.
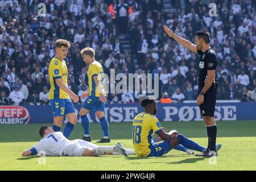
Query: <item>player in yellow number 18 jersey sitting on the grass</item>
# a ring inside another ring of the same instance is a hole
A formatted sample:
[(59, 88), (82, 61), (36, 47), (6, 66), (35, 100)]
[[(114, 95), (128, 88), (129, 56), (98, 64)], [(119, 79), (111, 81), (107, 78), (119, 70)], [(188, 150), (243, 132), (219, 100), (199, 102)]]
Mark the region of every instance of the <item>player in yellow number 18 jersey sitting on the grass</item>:
[[(176, 130), (166, 133), (160, 126), (156, 117), (157, 107), (156, 102), (148, 97), (143, 98), (141, 105), (144, 112), (138, 114), (133, 121), (133, 147), (137, 156), (162, 156), (170, 150), (181, 144), (190, 150), (203, 152), (207, 147), (202, 147), (196, 142), (178, 134)], [(153, 142), (152, 136), (158, 134), (162, 139), (160, 142)], [(221, 144), (216, 145), (216, 151), (221, 147)]]

